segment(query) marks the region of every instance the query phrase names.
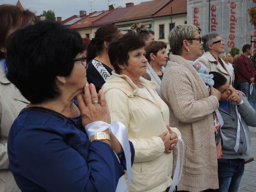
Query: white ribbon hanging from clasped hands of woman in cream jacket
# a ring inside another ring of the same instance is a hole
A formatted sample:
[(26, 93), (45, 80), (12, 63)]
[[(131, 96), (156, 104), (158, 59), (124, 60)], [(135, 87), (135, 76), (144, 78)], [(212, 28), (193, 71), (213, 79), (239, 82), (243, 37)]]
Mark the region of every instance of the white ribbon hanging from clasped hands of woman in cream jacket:
[[(175, 186), (177, 186), (178, 183), (180, 182), (181, 175), (182, 175), (183, 162), (184, 162), (185, 145), (184, 145), (184, 141), (182, 140), (181, 137), (178, 136), (178, 140), (181, 141), (182, 146), (183, 146), (182, 159), (181, 159), (181, 171), (180, 171), (180, 146), (179, 146), (179, 141), (178, 141), (178, 142), (177, 142), (177, 150), (178, 150), (177, 164), (176, 164), (176, 168), (175, 168), (174, 175), (173, 175), (173, 182), (172, 182), (172, 184), (171, 184), (171, 187), (170, 187), (170, 189), (169, 189), (169, 192), (173, 192), (173, 191), (174, 191)], [(180, 173), (180, 175), (179, 175), (179, 173)]]

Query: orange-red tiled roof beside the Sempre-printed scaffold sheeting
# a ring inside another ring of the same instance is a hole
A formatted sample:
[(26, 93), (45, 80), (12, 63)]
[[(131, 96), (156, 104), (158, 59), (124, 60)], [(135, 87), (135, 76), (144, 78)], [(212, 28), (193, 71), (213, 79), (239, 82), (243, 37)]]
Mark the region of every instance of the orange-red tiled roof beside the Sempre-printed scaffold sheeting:
[(153, 17), (171, 15), (171, 7), (173, 7), (172, 14), (187, 13), (187, 0), (173, 0), (167, 6), (158, 11)]

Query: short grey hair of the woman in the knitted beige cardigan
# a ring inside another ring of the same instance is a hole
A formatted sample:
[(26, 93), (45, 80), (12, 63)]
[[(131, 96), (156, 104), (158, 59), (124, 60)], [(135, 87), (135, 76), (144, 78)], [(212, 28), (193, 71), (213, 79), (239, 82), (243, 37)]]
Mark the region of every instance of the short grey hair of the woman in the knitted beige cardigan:
[(171, 52), (174, 55), (181, 55), (183, 40), (194, 38), (195, 31), (198, 31), (195, 25), (182, 24), (175, 26), (168, 37)]

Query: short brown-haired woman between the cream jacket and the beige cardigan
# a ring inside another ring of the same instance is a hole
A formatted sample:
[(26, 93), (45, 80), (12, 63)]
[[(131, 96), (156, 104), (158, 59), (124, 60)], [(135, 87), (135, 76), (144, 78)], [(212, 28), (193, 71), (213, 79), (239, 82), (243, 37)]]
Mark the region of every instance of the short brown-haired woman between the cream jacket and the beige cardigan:
[(163, 41), (151, 41), (146, 47), (147, 58), (147, 73), (149, 73), (151, 80), (157, 83), (156, 92), (160, 95), (161, 80), (164, 74), (164, 66), (168, 59), (166, 53), (167, 45)]

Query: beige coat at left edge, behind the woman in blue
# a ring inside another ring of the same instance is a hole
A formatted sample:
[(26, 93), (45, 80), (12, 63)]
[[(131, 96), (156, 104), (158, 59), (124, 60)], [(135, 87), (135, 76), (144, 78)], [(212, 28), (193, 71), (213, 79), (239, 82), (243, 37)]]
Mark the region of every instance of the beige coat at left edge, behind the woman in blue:
[(8, 170), (7, 137), (14, 119), (29, 103), (5, 76), (0, 65), (0, 192), (19, 192), (13, 174)]

